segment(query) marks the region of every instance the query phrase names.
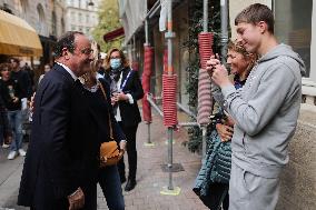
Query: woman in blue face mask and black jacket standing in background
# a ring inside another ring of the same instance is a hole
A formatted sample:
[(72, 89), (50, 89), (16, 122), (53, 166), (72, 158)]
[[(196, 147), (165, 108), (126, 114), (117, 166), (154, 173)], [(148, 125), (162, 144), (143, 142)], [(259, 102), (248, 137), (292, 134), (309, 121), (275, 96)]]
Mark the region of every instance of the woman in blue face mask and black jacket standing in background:
[[(136, 186), (136, 132), (141, 121), (137, 101), (144, 97), (144, 90), (138, 72), (130, 69), (124, 52), (116, 48), (107, 53), (105, 78), (111, 83), (111, 101), (116, 109), (116, 119), (127, 138), (129, 170), (125, 190), (130, 191)], [(124, 183), (126, 181), (124, 158), (119, 161), (118, 169), (120, 181)]]

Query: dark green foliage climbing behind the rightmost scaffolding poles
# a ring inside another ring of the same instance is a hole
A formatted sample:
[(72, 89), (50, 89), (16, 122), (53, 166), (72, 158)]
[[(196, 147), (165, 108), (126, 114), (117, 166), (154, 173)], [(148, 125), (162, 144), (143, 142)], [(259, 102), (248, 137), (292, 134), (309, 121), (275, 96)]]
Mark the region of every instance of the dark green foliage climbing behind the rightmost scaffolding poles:
[[(208, 31), (214, 33), (213, 51), (215, 53), (220, 51), (220, 6), (219, 1), (210, 0)], [(184, 42), (184, 47), (190, 52), (190, 61), (186, 71), (189, 74), (189, 81), (186, 90), (189, 94), (188, 106), (197, 109), (198, 104), (198, 72), (199, 72), (199, 53), (198, 53), (198, 34), (203, 31), (203, 0), (195, 0), (191, 2), (189, 11), (189, 39)], [(196, 110), (195, 110), (196, 111)], [(197, 112), (197, 111), (196, 111)], [(189, 141), (186, 143), (188, 149), (192, 152), (199, 151), (201, 148), (201, 131), (197, 127), (188, 129)]]

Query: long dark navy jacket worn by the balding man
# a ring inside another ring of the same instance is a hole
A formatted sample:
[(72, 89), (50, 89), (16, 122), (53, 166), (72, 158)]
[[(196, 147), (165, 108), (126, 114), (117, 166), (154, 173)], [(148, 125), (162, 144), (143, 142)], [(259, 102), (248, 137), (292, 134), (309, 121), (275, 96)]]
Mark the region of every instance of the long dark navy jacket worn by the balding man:
[(39, 210), (67, 209), (67, 196), (78, 187), (87, 193), (96, 184), (98, 127), (81, 88), (58, 64), (42, 79), (34, 98), (18, 204)]

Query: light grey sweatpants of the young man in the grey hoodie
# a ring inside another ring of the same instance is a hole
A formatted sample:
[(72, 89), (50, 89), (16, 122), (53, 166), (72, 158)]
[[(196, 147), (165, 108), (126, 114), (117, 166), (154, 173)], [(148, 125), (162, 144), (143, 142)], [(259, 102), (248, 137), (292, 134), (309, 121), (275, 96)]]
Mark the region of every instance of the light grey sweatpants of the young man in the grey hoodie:
[(278, 194), (278, 178), (253, 174), (231, 161), (229, 210), (274, 210)]

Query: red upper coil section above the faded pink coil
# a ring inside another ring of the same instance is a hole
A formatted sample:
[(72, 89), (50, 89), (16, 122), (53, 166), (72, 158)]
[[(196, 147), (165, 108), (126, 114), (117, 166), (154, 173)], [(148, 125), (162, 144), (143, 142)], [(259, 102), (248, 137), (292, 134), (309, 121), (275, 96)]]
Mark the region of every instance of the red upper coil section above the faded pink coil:
[(214, 34), (210, 32), (201, 32), (198, 34), (200, 67), (206, 69), (206, 61), (213, 56)]

